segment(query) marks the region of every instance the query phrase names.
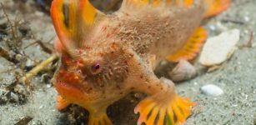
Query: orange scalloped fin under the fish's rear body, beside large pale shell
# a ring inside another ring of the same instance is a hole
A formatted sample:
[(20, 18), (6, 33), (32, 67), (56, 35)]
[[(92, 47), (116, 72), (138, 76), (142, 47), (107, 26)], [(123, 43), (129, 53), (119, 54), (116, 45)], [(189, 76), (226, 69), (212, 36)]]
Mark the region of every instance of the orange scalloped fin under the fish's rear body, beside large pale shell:
[(200, 51), (200, 48), (203, 46), (203, 42), (207, 38), (206, 29), (200, 27), (197, 28), (185, 45), (179, 49), (177, 52), (174, 52), (172, 55), (169, 55), (167, 59), (172, 62), (178, 62), (180, 60), (191, 60), (193, 57), (196, 57), (196, 54)]

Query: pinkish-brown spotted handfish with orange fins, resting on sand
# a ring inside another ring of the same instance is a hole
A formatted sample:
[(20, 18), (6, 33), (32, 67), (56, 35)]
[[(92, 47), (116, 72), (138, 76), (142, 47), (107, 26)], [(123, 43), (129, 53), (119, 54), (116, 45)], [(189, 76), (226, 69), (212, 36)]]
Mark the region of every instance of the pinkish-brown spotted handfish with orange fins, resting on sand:
[(186, 120), (194, 103), (153, 69), (166, 57), (195, 56), (206, 37), (198, 29), (208, 14), (205, 2), (124, 0), (118, 12), (105, 15), (88, 0), (54, 0), (51, 13), (62, 56), (53, 80), (58, 109), (75, 103), (90, 113), (88, 124), (112, 124), (107, 107), (139, 91), (148, 97), (135, 107), (138, 124)]

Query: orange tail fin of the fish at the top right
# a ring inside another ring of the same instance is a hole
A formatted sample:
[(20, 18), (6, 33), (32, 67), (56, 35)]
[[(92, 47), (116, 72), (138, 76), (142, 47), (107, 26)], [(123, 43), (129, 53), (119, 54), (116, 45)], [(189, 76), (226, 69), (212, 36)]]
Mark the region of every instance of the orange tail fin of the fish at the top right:
[(222, 13), (228, 9), (231, 0), (205, 0), (207, 11), (204, 14), (205, 18), (212, 17), (218, 13)]

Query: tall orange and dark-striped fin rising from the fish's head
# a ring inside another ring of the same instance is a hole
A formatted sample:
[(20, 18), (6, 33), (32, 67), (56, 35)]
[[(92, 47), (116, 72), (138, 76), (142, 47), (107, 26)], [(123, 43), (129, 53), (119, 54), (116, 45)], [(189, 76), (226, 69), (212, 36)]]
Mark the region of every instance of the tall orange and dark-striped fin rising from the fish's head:
[(53, 25), (63, 49), (72, 54), (81, 47), (93, 26), (104, 17), (88, 0), (53, 0)]

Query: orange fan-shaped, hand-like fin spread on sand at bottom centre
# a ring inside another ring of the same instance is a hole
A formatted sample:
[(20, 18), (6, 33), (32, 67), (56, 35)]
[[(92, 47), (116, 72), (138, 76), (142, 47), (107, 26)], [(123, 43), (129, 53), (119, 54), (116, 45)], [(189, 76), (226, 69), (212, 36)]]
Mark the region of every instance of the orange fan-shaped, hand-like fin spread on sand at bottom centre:
[(195, 105), (195, 102), (190, 102), (188, 98), (178, 97), (176, 94), (166, 104), (159, 104), (152, 97), (147, 97), (138, 103), (134, 112), (140, 113), (138, 125), (143, 122), (146, 125), (154, 124), (154, 122), (156, 125), (177, 125), (186, 121), (191, 113), (190, 108)]

